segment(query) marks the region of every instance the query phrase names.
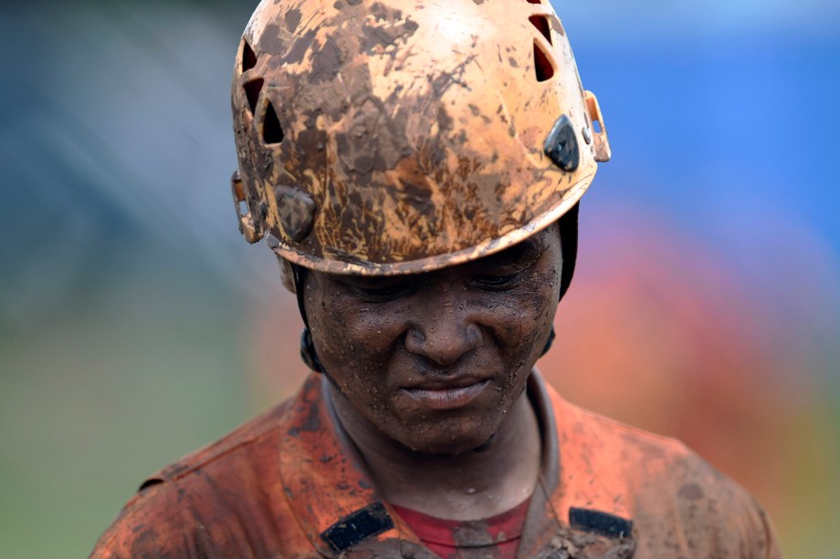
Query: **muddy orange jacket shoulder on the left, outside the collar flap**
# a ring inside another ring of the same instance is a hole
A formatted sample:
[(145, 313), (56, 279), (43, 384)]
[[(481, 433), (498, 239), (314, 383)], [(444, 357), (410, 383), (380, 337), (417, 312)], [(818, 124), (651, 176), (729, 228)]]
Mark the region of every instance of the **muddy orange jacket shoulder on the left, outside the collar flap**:
[(287, 409), (289, 400), (143, 481), (90, 556), (260, 556), (276, 547), (278, 533), (294, 532), (278, 475)]

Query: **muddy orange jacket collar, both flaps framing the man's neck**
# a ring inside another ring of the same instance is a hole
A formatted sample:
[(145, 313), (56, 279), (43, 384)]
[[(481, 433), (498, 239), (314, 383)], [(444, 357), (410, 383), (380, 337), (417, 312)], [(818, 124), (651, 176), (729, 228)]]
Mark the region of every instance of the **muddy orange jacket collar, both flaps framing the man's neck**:
[[(377, 492), (357, 450), (332, 415), (327, 390), (326, 378), (310, 375), (279, 430), (281, 481), (310, 543), (326, 557), (373, 551), (384, 556), (435, 557)], [(582, 422), (576, 409), (536, 370), (529, 379), (528, 395), (542, 430), (542, 472), (531, 497), (519, 555), (537, 557), (556, 543), (558, 533), (577, 534), (575, 541), (597, 539), (569, 528), (572, 507), (606, 513), (607, 520), (629, 515), (624, 501), (614, 499), (614, 476), (604, 477), (609, 469), (599, 462), (599, 441), (586, 440), (577, 432)]]

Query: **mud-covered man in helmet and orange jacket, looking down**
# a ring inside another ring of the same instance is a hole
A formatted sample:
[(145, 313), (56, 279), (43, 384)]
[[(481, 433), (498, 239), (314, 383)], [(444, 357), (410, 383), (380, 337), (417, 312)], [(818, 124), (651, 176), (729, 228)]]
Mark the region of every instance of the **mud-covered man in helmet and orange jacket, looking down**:
[(272, 0), (233, 83), (298, 395), (143, 483), (95, 557), (777, 557), (751, 497), (533, 368), (610, 150), (540, 0)]

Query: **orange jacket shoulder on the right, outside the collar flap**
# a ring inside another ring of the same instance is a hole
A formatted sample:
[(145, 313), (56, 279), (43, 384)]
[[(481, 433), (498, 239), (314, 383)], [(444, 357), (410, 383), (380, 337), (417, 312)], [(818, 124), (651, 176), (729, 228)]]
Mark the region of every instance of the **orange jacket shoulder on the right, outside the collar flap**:
[(561, 451), (563, 443), (572, 447), (563, 453), (567, 466), (583, 473), (583, 491), (607, 486), (602, 500), (624, 503), (637, 534), (635, 556), (782, 556), (761, 505), (683, 442), (559, 398), (555, 409)]

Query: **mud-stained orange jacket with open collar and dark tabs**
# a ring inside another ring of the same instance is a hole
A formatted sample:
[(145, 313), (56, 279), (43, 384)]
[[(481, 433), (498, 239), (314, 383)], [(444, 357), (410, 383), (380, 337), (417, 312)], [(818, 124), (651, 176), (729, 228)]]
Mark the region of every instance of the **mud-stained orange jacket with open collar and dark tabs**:
[[(92, 557), (433, 558), (377, 493), (322, 380), (145, 481)], [(528, 388), (543, 437), (519, 557), (781, 557), (761, 507), (682, 443)]]

